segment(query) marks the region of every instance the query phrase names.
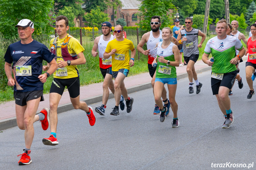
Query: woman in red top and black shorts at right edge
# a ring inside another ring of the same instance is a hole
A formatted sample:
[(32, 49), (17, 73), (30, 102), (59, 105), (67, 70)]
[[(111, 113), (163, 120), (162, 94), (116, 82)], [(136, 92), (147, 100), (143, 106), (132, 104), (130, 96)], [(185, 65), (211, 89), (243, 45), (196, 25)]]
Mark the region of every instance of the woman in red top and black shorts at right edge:
[(248, 59), (245, 65), (246, 80), (250, 88), (247, 98), (252, 98), (252, 95), (255, 94), (251, 77), (252, 72), (256, 69), (256, 24), (252, 24), (250, 28), (252, 32), (252, 37), (250, 37), (247, 41), (246, 53), (248, 53)]

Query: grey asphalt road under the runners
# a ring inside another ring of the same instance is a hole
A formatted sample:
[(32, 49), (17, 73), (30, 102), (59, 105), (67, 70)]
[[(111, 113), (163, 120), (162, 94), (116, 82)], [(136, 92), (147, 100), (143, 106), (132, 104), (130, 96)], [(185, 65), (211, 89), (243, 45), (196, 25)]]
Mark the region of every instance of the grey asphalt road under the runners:
[[(39, 122), (34, 123), (30, 165), (18, 166), (17, 155), (25, 147), (24, 131), (18, 127), (3, 130), (0, 169), (248, 169), (241, 166), (252, 163), (249, 169), (256, 169), (256, 96), (247, 99), (245, 62), (240, 70), (244, 87), (239, 89), (237, 81), (233, 87), (230, 100), (234, 123), (229, 129), (221, 128), (225, 119), (212, 95), (211, 72), (207, 71), (198, 74), (203, 83), (199, 94), (188, 94), (187, 78), (178, 80), (178, 128), (171, 128), (172, 112), (165, 122), (152, 114), (152, 89), (142, 90), (129, 94), (134, 98), (131, 113), (110, 115), (115, 105), (110, 99), (105, 116), (95, 112), (93, 127), (81, 110), (59, 114), (56, 146), (43, 145), (42, 138), (50, 135), (50, 128), (43, 131)], [(94, 109), (100, 105), (90, 106)]]

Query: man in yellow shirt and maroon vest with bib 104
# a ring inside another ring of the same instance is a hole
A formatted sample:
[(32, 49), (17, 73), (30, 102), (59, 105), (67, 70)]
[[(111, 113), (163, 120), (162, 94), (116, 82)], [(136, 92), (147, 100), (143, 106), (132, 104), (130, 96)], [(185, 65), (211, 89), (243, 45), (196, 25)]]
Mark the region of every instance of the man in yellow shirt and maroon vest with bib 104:
[[(58, 63), (58, 69), (53, 75), (53, 82), (50, 88), (50, 129), (49, 138), (43, 138), (44, 145), (58, 145), (56, 138), (56, 130), (58, 123), (57, 109), (63, 91), (67, 86), (69, 96), (74, 109), (81, 109), (86, 112), (91, 126), (95, 124), (96, 118), (92, 108), (87, 106), (83, 101), (79, 101), (80, 81), (79, 72), (76, 65), (85, 64), (85, 50), (79, 41), (67, 34), (69, 30), (68, 18), (60, 15), (56, 17), (56, 31), (58, 37), (50, 41), (50, 50), (56, 55), (55, 59)], [(44, 66), (43, 70), (47, 70), (48, 66)]]

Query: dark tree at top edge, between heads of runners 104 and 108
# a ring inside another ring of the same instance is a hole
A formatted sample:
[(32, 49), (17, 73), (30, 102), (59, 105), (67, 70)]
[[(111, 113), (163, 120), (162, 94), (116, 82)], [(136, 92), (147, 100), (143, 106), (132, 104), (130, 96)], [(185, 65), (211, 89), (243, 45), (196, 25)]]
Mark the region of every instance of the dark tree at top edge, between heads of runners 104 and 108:
[(96, 9), (97, 6), (100, 7), (101, 11), (105, 11), (107, 9), (107, 4), (102, 0), (84, 0), (84, 10), (85, 12), (90, 12), (92, 9)]

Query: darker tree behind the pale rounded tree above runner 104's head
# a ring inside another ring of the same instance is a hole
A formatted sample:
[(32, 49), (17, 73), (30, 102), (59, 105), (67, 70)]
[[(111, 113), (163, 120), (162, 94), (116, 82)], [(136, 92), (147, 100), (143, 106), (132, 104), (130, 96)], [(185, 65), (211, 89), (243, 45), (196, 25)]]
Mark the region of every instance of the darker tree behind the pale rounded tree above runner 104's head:
[[(41, 0), (42, 1), (42, 0)], [(83, 0), (55, 0), (55, 12), (58, 14), (59, 10), (66, 7), (71, 7), (75, 17), (83, 17), (85, 11), (82, 9)], [(67, 13), (66, 13), (67, 14)], [(64, 14), (66, 16), (66, 14)]]

